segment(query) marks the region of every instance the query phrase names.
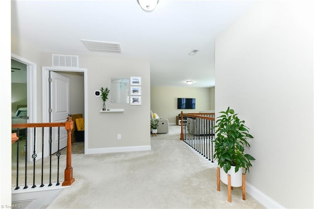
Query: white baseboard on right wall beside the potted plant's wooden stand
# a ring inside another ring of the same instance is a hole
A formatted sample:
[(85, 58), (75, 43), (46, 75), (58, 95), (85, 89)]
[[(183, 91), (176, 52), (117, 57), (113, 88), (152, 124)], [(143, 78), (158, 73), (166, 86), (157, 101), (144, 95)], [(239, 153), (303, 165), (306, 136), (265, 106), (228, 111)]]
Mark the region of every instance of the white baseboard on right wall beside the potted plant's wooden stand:
[(267, 209), (284, 209), (282, 205), (278, 204), (273, 199), (269, 198), (267, 195), (262, 193), (260, 190), (252, 186), (250, 183), (246, 184), (246, 192), (251, 195), (254, 199), (259, 201)]

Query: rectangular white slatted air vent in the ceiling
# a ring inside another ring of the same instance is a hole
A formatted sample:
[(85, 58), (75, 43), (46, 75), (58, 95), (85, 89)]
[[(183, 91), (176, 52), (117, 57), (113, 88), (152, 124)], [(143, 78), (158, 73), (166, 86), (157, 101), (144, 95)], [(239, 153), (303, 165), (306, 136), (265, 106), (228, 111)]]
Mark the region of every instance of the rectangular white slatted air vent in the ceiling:
[(83, 40), (86, 48), (91, 52), (109, 52), (109, 53), (121, 53), (120, 43), (105, 42), (105, 41), (91, 41)]

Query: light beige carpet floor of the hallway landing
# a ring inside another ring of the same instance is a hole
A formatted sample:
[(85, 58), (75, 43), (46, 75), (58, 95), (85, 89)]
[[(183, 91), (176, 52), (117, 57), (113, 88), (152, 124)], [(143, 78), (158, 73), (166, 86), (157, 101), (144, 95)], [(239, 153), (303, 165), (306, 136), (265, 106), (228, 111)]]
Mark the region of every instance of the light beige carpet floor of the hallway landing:
[(75, 183), (48, 209), (216, 209), (264, 208), (241, 188), (217, 191), (216, 169), (179, 140), (180, 127), (151, 137), (151, 151), (72, 156)]

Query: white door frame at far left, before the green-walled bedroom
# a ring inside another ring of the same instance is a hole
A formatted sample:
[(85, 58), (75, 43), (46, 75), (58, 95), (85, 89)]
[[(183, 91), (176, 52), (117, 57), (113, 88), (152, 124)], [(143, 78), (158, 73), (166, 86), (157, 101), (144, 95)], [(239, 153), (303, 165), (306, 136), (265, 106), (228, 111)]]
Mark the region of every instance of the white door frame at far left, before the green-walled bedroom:
[[(27, 123), (36, 123), (37, 122), (37, 65), (34, 62), (31, 62), (21, 56), (18, 56), (14, 53), (11, 53), (11, 59), (22, 62), (26, 65), (26, 75), (27, 75), (27, 115), (29, 119)], [(27, 146), (27, 159), (31, 160), (34, 147), (34, 132), (31, 129), (27, 129), (27, 143), (30, 146)], [(37, 152), (37, 144), (35, 145), (35, 150)], [(41, 154), (37, 155), (41, 158)], [(39, 159), (37, 158), (37, 159)]]

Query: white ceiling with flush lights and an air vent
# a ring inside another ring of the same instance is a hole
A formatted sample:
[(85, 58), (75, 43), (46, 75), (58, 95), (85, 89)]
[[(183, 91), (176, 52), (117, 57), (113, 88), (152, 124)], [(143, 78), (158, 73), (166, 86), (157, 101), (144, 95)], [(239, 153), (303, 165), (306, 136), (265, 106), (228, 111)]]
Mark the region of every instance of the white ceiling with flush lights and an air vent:
[[(211, 87), (215, 37), (252, 3), (159, 0), (148, 13), (136, 0), (16, 0), (11, 35), (41, 52), (148, 57), (152, 86)], [(120, 43), (122, 53), (90, 52), (81, 39)]]

